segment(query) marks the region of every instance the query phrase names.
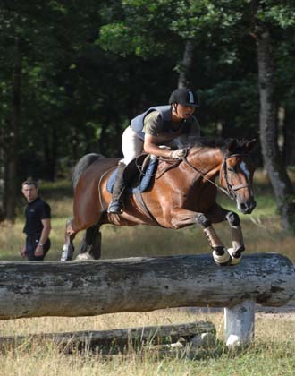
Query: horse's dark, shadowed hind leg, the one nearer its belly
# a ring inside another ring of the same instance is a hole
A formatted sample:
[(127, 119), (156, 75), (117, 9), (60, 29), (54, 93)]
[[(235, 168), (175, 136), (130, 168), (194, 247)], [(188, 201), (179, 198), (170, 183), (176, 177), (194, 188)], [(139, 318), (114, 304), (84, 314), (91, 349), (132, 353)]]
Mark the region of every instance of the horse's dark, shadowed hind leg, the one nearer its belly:
[(98, 260), (101, 256), (101, 233), (99, 226), (89, 227), (80, 243), (77, 260)]

